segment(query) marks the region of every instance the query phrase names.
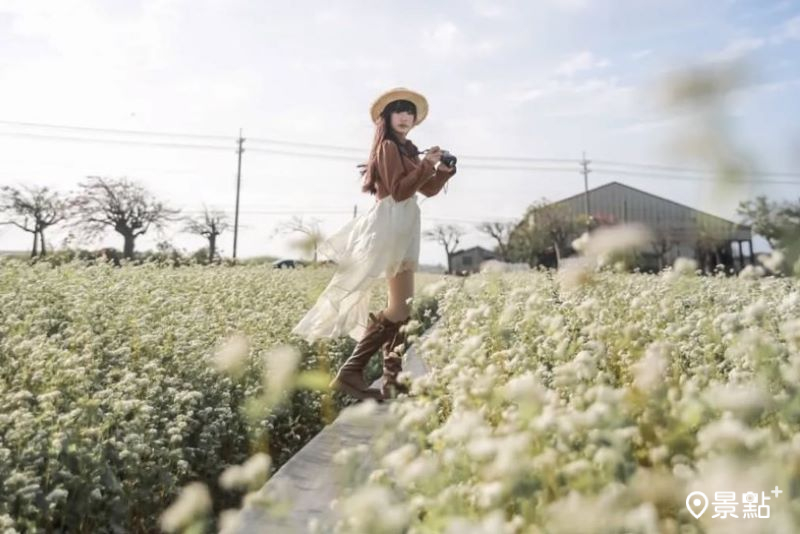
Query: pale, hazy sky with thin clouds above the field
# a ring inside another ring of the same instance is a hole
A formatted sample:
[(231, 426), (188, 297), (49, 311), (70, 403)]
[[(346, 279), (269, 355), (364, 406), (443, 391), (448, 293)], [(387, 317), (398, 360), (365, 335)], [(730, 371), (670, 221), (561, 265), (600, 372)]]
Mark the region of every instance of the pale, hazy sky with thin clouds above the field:
[[(241, 128), (238, 256), (298, 257), (281, 223), (298, 215), (329, 235), (374, 203), (355, 167), (369, 106), (402, 86), (430, 104), (409, 138), (459, 156), (447, 191), (420, 195), (422, 228), (457, 224), (463, 248), (492, 246), (476, 223), (581, 192), (584, 153), (590, 188), (619, 181), (738, 221), (741, 200), (800, 197), (797, 57), (800, 0), (0, 0), (0, 185), (67, 195), (89, 175), (127, 177), (232, 223)], [(767, 174), (721, 192), (685, 149), (696, 113), (664, 95), (686, 69), (731, 64), (746, 76), (720, 100), (720, 131)], [(137, 250), (205, 245), (179, 230)], [(0, 250), (31, 243), (0, 226)], [(220, 246), (232, 254), (232, 231)], [(443, 247), (423, 241), (420, 260), (444, 264)]]

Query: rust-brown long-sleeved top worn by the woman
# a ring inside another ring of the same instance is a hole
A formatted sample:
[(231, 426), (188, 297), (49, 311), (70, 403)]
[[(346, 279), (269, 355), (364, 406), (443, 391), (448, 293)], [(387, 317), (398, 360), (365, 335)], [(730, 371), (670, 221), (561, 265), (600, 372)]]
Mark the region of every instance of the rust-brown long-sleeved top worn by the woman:
[(455, 169), (452, 172), (443, 169), (437, 171), (431, 162), (420, 159), (416, 153), (416, 147), (408, 140), (402, 151), (388, 139), (381, 143), (375, 155), (377, 200), (391, 195), (400, 202), (418, 191), (426, 197), (432, 197), (456, 173)]

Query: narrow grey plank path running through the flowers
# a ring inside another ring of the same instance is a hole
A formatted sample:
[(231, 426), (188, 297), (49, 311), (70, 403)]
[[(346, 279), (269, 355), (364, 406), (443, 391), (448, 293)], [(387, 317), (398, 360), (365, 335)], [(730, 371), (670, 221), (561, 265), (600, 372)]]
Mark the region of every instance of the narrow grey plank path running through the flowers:
[[(427, 366), (417, 355), (415, 348), (424, 339), (424, 334), (411, 345), (404, 355), (403, 370), (413, 377), (423, 376)], [(380, 358), (380, 353), (375, 357)], [(380, 388), (381, 379), (372, 387)], [(330, 527), (336, 521), (331, 502), (343, 495), (350, 487), (359, 484), (378, 466), (378, 458), (368, 452), (359, 461), (359, 470), (350, 483), (340, 473), (341, 466), (333, 460), (334, 455), (345, 447), (367, 445), (373, 441), (385, 424), (391, 403), (377, 405), (369, 423), (344, 421), (337, 418), (298, 451), (259, 490), (259, 496), (278, 499), (286, 503), (282, 516), (268, 512), (257, 505), (247, 505), (239, 514), (237, 534), (301, 533), (308, 532), (308, 522), (316, 518), (320, 525)]]

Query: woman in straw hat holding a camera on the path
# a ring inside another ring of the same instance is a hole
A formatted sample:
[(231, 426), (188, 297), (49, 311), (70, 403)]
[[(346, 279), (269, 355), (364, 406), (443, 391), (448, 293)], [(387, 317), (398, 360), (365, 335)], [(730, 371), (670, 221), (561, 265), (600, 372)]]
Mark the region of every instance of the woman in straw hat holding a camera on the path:
[[(322, 243), (319, 253), (338, 264), (328, 286), (292, 333), (309, 343), (347, 334), (358, 340), (353, 353), (330, 384), (358, 399), (382, 401), (408, 387), (397, 381), (406, 345), (405, 325), (411, 316), (414, 271), (419, 264), (420, 209), (416, 193), (436, 195), (456, 173), (441, 163), (439, 147), (419, 150), (407, 135), (428, 114), (424, 96), (399, 87), (379, 96), (370, 114), (375, 123), (372, 150), (363, 174), (362, 192), (375, 204)], [(388, 281), (387, 306), (369, 311), (372, 286)], [(381, 389), (364, 381), (364, 368), (383, 349)]]

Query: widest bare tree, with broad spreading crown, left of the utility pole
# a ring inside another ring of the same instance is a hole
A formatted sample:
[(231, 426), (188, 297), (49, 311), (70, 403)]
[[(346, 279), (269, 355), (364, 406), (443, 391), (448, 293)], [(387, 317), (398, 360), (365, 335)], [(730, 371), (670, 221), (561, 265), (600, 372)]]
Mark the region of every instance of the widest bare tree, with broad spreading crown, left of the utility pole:
[(111, 228), (125, 239), (123, 257), (128, 259), (133, 258), (137, 237), (151, 226), (164, 230), (168, 222), (179, 220), (176, 216), (180, 213), (156, 201), (144, 187), (127, 178), (88, 176), (72, 204), (74, 224), (83, 229), (87, 239)]

